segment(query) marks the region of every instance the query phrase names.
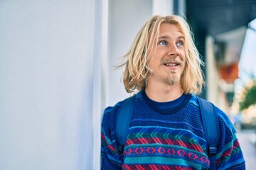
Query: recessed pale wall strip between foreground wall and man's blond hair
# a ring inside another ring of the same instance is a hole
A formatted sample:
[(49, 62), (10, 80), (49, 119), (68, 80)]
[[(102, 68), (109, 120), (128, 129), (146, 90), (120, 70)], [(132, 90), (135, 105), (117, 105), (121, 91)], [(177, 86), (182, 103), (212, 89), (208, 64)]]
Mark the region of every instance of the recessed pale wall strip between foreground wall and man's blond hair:
[(122, 69), (115, 69), (122, 62), (132, 42), (147, 19), (152, 15), (149, 0), (110, 0), (108, 34), (107, 106), (129, 96), (122, 84)]

